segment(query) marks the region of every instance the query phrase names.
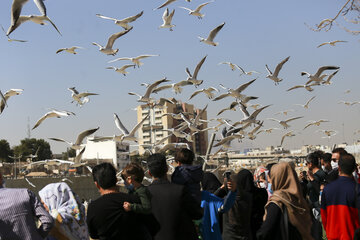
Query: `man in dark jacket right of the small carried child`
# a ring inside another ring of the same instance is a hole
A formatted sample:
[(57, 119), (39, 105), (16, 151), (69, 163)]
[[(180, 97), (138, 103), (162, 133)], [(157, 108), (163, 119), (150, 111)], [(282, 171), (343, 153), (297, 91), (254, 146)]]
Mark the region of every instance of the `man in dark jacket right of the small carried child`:
[(152, 195), (152, 211), (161, 226), (160, 231), (155, 235), (155, 240), (198, 239), (192, 220), (202, 218), (200, 205), (184, 186), (169, 182), (164, 155), (151, 155), (147, 165), (154, 180), (148, 186)]

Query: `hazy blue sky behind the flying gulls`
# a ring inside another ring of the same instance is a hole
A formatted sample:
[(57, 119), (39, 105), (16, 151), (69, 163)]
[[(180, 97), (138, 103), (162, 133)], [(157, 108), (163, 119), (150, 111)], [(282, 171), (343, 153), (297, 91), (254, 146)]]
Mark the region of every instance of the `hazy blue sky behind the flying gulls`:
[[(171, 32), (158, 29), (162, 24), (164, 9), (153, 9), (162, 3), (159, 0), (45, 1), (47, 15), (57, 25), (62, 36), (51, 25), (41, 26), (32, 22), (24, 23), (10, 36), (27, 40), (26, 43), (8, 42), (5, 34), (0, 32), (0, 90), (24, 89), (23, 94), (9, 99), (8, 108), (0, 115), (0, 139), (8, 140), (11, 146), (18, 145), (21, 139), (27, 137), (28, 124), (32, 128), (41, 116), (53, 108), (72, 111), (76, 116), (47, 119), (31, 131), (31, 137), (75, 141), (80, 132), (95, 127), (100, 127), (97, 135), (119, 134), (113, 113), (119, 115), (128, 129), (136, 123), (136, 112), (133, 109), (138, 105), (137, 97), (128, 95), (128, 92), (143, 94), (145, 88), (140, 83), (151, 83), (163, 77), (167, 77), (171, 83), (185, 80), (185, 68), (189, 67), (193, 71), (205, 55), (208, 57), (198, 75), (198, 79), (204, 80), (200, 88), (219, 88), (219, 84), (236, 88), (254, 78), (239, 76), (238, 71), (232, 72), (228, 66), (218, 65), (223, 61), (236, 63), (246, 71), (258, 71), (261, 73), (256, 75), (258, 79), (244, 94), (258, 96), (252, 102), (254, 104), (272, 104), (260, 113), (258, 119), (264, 120), (264, 128), (280, 128), (272, 134), (261, 134), (254, 141), (246, 139), (242, 143), (234, 143), (234, 150), (277, 146), (281, 136), (288, 130), (294, 130), (296, 136), (285, 139), (285, 148), (298, 148), (304, 144), (352, 143), (359, 138), (360, 135), (354, 135), (354, 132), (360, 129), (360, 104), (352, 107), (338, 104), (342, 100), (360, 101), (359, 37), (346, 33), (337, 25), (328, 32), (314, 32), (307, 27), (335, 16), (342, 1), (216, 0), (202, 9), (205, 14), (203, 19), (189, 16), (186, 10), (179, 8), (194, 9), (203, 2), (178, 0), (169, 5), (170, 11), (176, 9), (173, 18), (176, 26)], [(5, 29), (10, 25), (11, 4), (10, 0), (0, 3), (0, 24)], [(141, 11), (144, 11), (143, 16), (130, 24), (134, 26), (133, 30), (115, 42), (114, 47), (119, 48), (115, 57), (99, 52), (91, 44), (98, 42), (106, 45), (111, 34), (122, 31), (113, 21), (98, 18), (95, 14), (122, 19)], [(39, 11), (33, 1), (29, 1), (23, 7), (22, 14), (35, 15)], [(222, 22), (225, 25), (215, 38), (219, 42), (218, 46), (199, 41), (198, 36), (206, 37), (211, 29)], [(340, 20), (340, 23), (345, 24), (344, 20)], [(326, 45), (317, 48), (320, 43), (333, 40), (348, 42), (339, 43), (335, 47)], [(59, 48), (71, 46), (84, 49), (79, 49), (77, 55), (66, 52), (56, 54)], [(160, 56), (144, 59), (144, 65), (128, 69), (130, 73), (127, 76), (106, 69), (108, 66), (120, 67), (129, 63), (107, 63), (116, 57), (141, 54)], [(265, 78), (265, 64), (273, 70), (287, 56), (290, 56), (290, 60), (280, 72), (284, 80), (275, 86), (270, 79)], [(313, 92), (304, 89), (286, 91), (292, 86), (305, 84), (307, 78), (300, 75), (301, 71), (315, 73), (324, 65), (340, 67), (332, 85), (315, 87)], [(67, 90), (69, 87), (99, 95), (91, 97), (91, 101), (80, 108), (71, 103), (71, 92)], [(347, 89), (351, 92), (345, 94)], [(226, 98), (213, 102), (201, 94), (189, 101), (195, 90), (194, 86), (187, 86), (181, 94), (175, 95), (166, 90), (156, 97), (175, 97), (198, 108), (209, 104), (208, 119), (216, 117), (219, 110), (228, 107), (233, 101)], [(294, 105), (305, 104), (312, 96), (316, 98), (308, 110)], [(284, 130), (278, 123), (267, 120), (286, 119), (287, 116), (274, 114), (288, 109), (295, 110), (288, 117), (304, 117), (290, 122), (290, 129)], [(233, 122), (243, 117), (240, 111), (226, 112), (222, 116)], [(319, 119), (330, 122), (303, 130), (307, 121)], [(336, 130), (338, 133), (326, 139), (322, 138), (322, 133), (316, 132), (319, 129)], [(61, 153), (68, 147), (65, 143), (48, 141), (53, 153)]]

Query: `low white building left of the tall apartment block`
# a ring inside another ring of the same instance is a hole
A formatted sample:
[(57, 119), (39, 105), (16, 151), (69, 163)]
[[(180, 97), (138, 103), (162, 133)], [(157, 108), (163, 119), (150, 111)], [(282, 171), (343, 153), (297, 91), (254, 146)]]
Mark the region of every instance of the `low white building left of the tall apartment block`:
[(130, 145), (127, 142), (116, 142), (114, 140), (95, 142), (87, 138), (82, 162), (111, 162), (118, 170), (123, 169), (130, 163)]

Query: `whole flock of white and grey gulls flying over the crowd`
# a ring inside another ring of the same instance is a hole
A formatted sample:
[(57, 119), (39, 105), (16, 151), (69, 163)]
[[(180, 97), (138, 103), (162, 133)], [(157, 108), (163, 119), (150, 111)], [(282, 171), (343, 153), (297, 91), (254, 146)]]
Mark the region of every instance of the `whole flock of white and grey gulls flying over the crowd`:
[[(20, 25), (22, 25), (25, 22), (31, 21), (37, 24), (45, 24), (45, 21), (49, 22), (54, 29), (61, 35), (61, 32), (57, 28), (57, 26), (54, 24), (54, 22), (47, 16), (46, 7), (43, 0), (34, 0), (34, 3), (36, 4), (37, 8), (40, 11), (41, 15), (28, 15), (23, 16), (21, 15), (22, 7), (24, 4), (26, 4), (29, 0), (13, 0), (13, 4), (11, 7), (11, 24), (8, 28), (8, 31), (6, 32), (6, 36), (8, 37), (9, 41), (18, 41), (18, 42), (24, 42), (25, 40), (17, 40), (10, 38), (10, 34), (13, 33)], [(169, 7), (172, 3), (174, 3), (176, 0), (167, 0), (163, 4), (161, 4), (159, 7), (155, 8), (154, 10), (165, 8), (162, 19), (163, 24), (159, 26), (159, 28), (168, 28), (170, 31), (173, 31), (173, 28), (175, 28), (176, 25), (172, 23), (173, 16), (175, 14), (175, 9), (172, 11), (169, 10)], [(186, 0), (187, 2), (191, 2), (191, 0)], [(199, 19), (204, 18), (205, 14), (201, 11), (205, 6), (208, 4), (213, 3), (214, 1), (209, 1), (202, 3), (198, 5), (195, 9), (190, 9), (186, 7), (181, 7), (184, 10), (187, 10), (189, 15), (196, 16)], [(96, 14), (97, 17), (105, 20), (111, 20), (119, 27), (123, 28), (122, 31), (116, 32), (114, 34), (111, 34), (110, 37), (107, 40), (107, 43), (105, 46), (93, 42), (92, 44), (95, 46), (98, 46), (99, 51), (106, 55), (112, 55), (115, 56), (119, 49), (114, 48), (115, 42), (120, 37), (125, 37), (126, 34), (128, 34), (130, 31), (134, 29), (133, 26), (130, 24), (134, 21), (136, 21), (138, 18), (143, 16), (144, 11), (141, 11), (140, 13), (130, 16), (124, 19), (117, 19), (113, 17), (107, 17), (101, 14)], [(214, 29), (212, 29), (209, 33), (209, 35), (204, 37), (199, 37), (200, 42), (203, 42), (205, 44), (208, 44), (210, 46), (217, 46), (218, 43), (215, 42), (215, 37), (219, 34), (221, 29), (224, 27), (225, 22), (219, 24)], [(4, 29), (3, 29), (4, 30)], [(5, 31), (5, 30), (4, 30)], [(320, 44), (318, 47), (322, 47), (324, 45), (331, 45), (335, 46), (336, 43), (342, 43), (346, 41), (333, 41), (333, 42), (326, 42)], [(56, 54), (61, 52), (67, 52), (70, 54), (77, 54), (77, 50), (84, 49), (79, 46), (72, 46), (67, 48), (60, 48), (56, 51)], [(139, 55), (136, 57), (120, 57), (116, 58), (114, 60), (109, 61), (108, 63), (114, 63), (118, 61), (130, 61), (131, 64), (125, 64), (121, 67), (115, 67), (115, 66), (109, 66), (106, 69), (114, 70), (120, 74), (123, 74), (126, 76), (128, 74), (127, 69), (129, 68), (140, 68), (144, 63), (140, 60), (143, 60), (145, 58), (150, 57), (158, 57), (159, 55), (155, 54), (144, 54)], [(195, 88), (198, 88), (200, 85), (204, 84), (204, 80), (201, 80), (198, 78), (199, 72), (203, 66), (203, 64), (206, 61), (206, 58), (208, 56), (204, 56), (199, 63), (196, 65), (195, 69), (193, 71), (190, 71), (188, 67), (186, 67), (185, 71), (187, 73), (186, 80), (182, 80), (179, 82), (173, 82), (171, 83), (170, 80), (167, 78), (160, 79), (158, 81), (155, 81), (153, 83), (142, 83), (141, 85), (146, 88), (144, 94), (138, 94), (135, 92), (129, 92), (129, 95), (135, 95), (138, 97), (137, 102), (139, 104), (147, 104), (150, 108), (160, 107), (164, 108), (166, 107), (166, 103), (169, 104), (176, 104), (175, 98), (160, 98), (156, 99), (154, 94), (157, 94), (160, 91), (165, 90), (172, 90), (174, 94), (181, 94), (184, 87), (194, 86)], [(281, 78), (281, 70), (283, 67), (285, 67), (286, 63), (289, 61), (290, 57), (286, 57), (283, 59), (280, 63), (276, 65), (276, 67), (272, 70), (267, 64), (265, 65), (265, 69), (267, 71), (267, 76), (269, 80), (273, 81), (275, 85), (279, 85), (283, 79)], [(235, 63), (232, 62), (221, 62), (219, 65), (228, 65), (230, 67), (231, 71), (239, 71), (240, 75), (244, 76), (259, 76), (260, 72), (251, 70), (251, 71), (245, 71), (241, 66), (238, 66)], [(334, 76), (338, 73), (339, 67), (338, 66), (321, 66), (317, 70), (316, 73), (311, 74), (308, 72), (301, 72), (301, 76), (306, 76), (306, 82), (303, 85), (295, 85), (291, 88), (289, 88), (287, 91), (293, 91), (296, 89), (305, 89), (306, 91), (312, 92), (314, 91), (315, 87), (325, 87), (327, 85), (330, 85), (332, 82), (331, 80), (334, 78)], [(176, 147), (184, 147), (187, 146), (186, 144), (176, 144), (171, 143), (169, 145), (164, 145), (164, 142), (169, 139), (171, 136), (176, 136), (179, 139), (185, 139), (187, 142), (193, 141), (193, 136), (195, 134), (198, 134), (202, 131), (215, 131), (220, 132), (221, 130), (221, 139), (218, 140), (218, 142), (214, 145), (214, 147), (220, 147), (219, 151), (227, 151), (231, 147), (231, 142), (233, 140), (242, 141), (243, 139), (250, 139), (255, 140), (257, 136), (260, 133), (264, 134), (271, 134), (274, 130), (280, 130), (279, 128), (268, 128), (264, 129), (264, 120), (261, 120), (260, 115), (262, 111), (268, 109), (271, 107), (271, 105), (261, 106), (260, 104), (251, 104), (252, 101), (258, 99), (258, 96), (249, 96), (245, 94), (245, 90), (252, 85), (258, 78), (255, 78), (251, 81), (248, 81), (246, 83), (240, 84), (237, 88), (228, 88), (225, 87), (223, 84), (219, 85), (219, 88), (224, 90), (224, 93), (220, 93), (220, 90), (218, 88), (208, 86), (201, 89), (196, 89), (190, 96), (190, 99), (195, 98), (199, 94), (205, 94), (206, 97), (211, 101), (220, 101), (225, 98), (231, 98), (233, 101), (230, 104), (229, 107), (226, 107), (224, 109), (221, 109), (217, 117), (211, 118), (209, 120), (201, 119), (202, 113), (206, 111), (207, 105), (201, 109), (199, 114), (196, 116), (193, 115), (193, 113), (186, 113), (182, 112), (179, 114), (164, 114), (170, 115), (174, 119), (182, 121), (178, 126), (172, 128), (172, 129), (164, 129), (166, 134), (166, 137), (164, 137), (162, 140), (157, 141), (155, 143), (151, 143), (150, 145), (143, 145), (144, 147), (150, 148), (151, 152), (157, 152), (157, 151), (166, 151), (170, 148), (176, 148)], [(206, 82), (205, 82), (206, 83)], [(205, 84), (204, 84), (205, 85)], [(87, 104), (90, 101), (90, 97), (98, 95), (97, 93), (92, 92), (79, 92), (76, 90), (75, 87), (68, 88), (69, 91), (71, 91), (71, 97), (72, 102), (76, 103), (77, 106), (83, 106), (84, 104)], [(23, 89), (10, 89), (9, 91), (5, 92), (4, 94), (0, 91), (0, 114), (3, 113), (5, 107), (7, 107), (7, 103), (9, 101), (10, 97), (20, 95), (23, 92)], [(219, 93), (219, 95), (217, 95)], [(298, 104), (299, 106), (303, 107), (304, 109), (308, 109), (310, 106), (310, 103), (314, 100), (315, 96), (311, 97), (308, 101), (306, 101), (305, 104)], [(360, 102), (340, 102), (343, 104), (346, 104), (348, 106), (352, 106), (354, 104), (360, 103)], [(253, 110), (251, 110), (253, 109)], [(236, 117), (237, 121), (232, 121), (229, 119), (221, 118), (219, 115), (223, 114), (226, 111), (240, 111), (242, 113), (242, 118)], [(289, 112), (294, 112), (293, 109), (282, 111), (276, 113), (276, 115), (283, 115), (287, 116)], [(69, 117), (76, 115), (74, 112), (70, 111), (64, 111), (64, 110), (55, 110), (52, 109), (49, 112), (45, 113), (42, 117), (39, 118), (39, 120), (35, 123), (32, 130), (38, 128), (40, 125), (44, 123), (49, 118), (62, 118), (62, 117)], [(287, 132), (283, 134), (283, 136), (280, 139), (280, 145), (282, 145), (286, 138), (293, 137), (297, 133), (295, 130), (288, 131), (291, 126), (289, 125), (290, 122), (299, 120), (303, 118), (304, 116), (295, 116), (290, 117), (287, 119), (279, 120), (275, 118), (268, 118), (267, 120), (277, 122), (279, 124), (279, 127), (282, 127), (283, 129), (286, 129)], [(142, 124), (149, 118), (149, 115), (146, 115), (141, 121), (139, 121), (138, 124), (136, 124), (133, 129), (129, 132), (126, 127), (122, 124), (120, 118), (117, 114), (114, 114), (114, 120), (115, 125), (117, 128), (121, 131), (121, 134), (114, 134), (113, 136), (106, 136), (106, 137), (94, 137), (89, 138), (92, 141), (107, 141), (107, 140), (114, 140), (118, 142), (123, 141), (138, 141), (138, 137), (136, 136), (137, 131), (140, 129)], [(240, 119), (240, 120), (239, 120)], [(202, 124), (206, 123), (212, 123), (217, 122), (216, 125), (203, 128)], [(309, 121), (303, 128), (303, 130), (310, 128), (311, 126), (320, 126), (323, 123), (327, 123), (329, 120), (326, 119), (319, 119), (319, 120), (312, 120)], [(89, 137), (90, 135), (94, 134), (99, 127), (89, 129), (86, 131), (81, 132), (78, 136), (76, 141), (69, 142), (66, 140), (63, 140), (61, 138), (49, 138), (52, 141), (60, 141), (67, 143), (71, 148), (78, 150), (78, 154), (76, 156), (76, 164), (80, 164), (82, 154), (85, 151), (85, 147), (83, 145), (83, 141), (86, 137)], [(330, 138), (334, 136), (337, 131), (335, 130), (317, 130), (318, 132), (322, 132), (324, 134), (325, 138)], [(183, 140), (179, 140), (180, 142)]]

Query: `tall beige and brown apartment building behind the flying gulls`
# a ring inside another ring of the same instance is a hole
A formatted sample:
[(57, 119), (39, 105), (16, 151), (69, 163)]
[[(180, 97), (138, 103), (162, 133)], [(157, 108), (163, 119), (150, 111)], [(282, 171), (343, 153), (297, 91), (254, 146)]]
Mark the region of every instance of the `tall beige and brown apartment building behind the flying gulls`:
[[(138, 130), (139, 145), (141, 144), (154, 144), (156, 141), (169, 136), (169, 132), (163, 131), (163, 129), (176, 128), (183, 120), (177, 120), (169, 115), (163, 115), (165, 113), (180, 113), (187, 112), (193, 114), (191, 118), (195, 118), (199, 114), (201, 109), (195, 109), (194, 105), (177, 102), (176, 104), (166, 103), (164, 107), (156, 106), (150, 108), (149, 105), (144, 104), (137, 107), (137, 121), (140, 122), (147, 114), (149, 118), (144, 122), (142, 127)], [(207, 112), (204, 111), (201, 119), (207, 120)], [(198, 127), (199, 129), (207, 128), (207, 123), (203, 123)], [(190, 133), (190, 129), (184, 130), (184, 132)], [(188, 142), (183, 138), (177, 138), (174, 135), (167, 139), (164, 144), (167, 143), (188, 143), (191, 150), (196, 154), (205, 155), (208, 145), (207, 131), (199, 132), (192, 136), (193, 142)], [(146, 148), (139, 146), (139, 154), (143, 154)]]

